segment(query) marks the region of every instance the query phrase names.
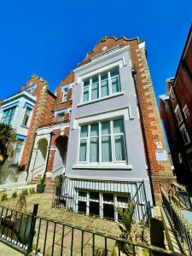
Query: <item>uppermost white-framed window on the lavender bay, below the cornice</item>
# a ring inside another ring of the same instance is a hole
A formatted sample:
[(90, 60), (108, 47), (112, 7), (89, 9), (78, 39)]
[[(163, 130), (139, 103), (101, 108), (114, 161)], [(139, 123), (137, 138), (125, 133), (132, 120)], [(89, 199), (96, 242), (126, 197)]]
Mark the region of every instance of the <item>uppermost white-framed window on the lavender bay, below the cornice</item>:
[(84, 80), (83, 102), (89, 102), (120, 91), (119, 68), (96, 74)]

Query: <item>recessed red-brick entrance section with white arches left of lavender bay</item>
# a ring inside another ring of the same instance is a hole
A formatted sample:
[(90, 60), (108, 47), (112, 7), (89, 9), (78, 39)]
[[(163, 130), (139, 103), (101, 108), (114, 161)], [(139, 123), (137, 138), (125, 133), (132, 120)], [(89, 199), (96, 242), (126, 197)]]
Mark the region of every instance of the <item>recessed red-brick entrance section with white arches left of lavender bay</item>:
[(44, 172), (49, 179), (65, 173), (73, 81), (74, 73), (69, 73), (61, 81), (55, 90), (55, 102), (47, 109), (51, 118), (47, 121), (43, 118), (38, 125), (29, 166), (29, 180), (35, 177), (39, 180)]

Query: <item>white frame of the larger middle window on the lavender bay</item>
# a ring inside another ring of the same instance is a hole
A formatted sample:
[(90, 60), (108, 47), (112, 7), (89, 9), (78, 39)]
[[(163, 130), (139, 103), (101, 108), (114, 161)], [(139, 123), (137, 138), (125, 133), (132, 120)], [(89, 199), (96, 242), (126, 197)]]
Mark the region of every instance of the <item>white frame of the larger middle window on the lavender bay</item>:
[[(120, 132), (120, 133), (113, 133), (113, 121), (117, 120), (117, 119), (122, 119), (123, 121), (123, 125), (124, 125), (124, 131)], [(82, 140), (86, 140), (86, 144), (87, 144), (87, 148), (86, 148), (86, 160), (85, 161), (80, 161), (79, 157), (80, 154), (78, 155), (78, 163), (79, 164), (89, 164), (89, 165), (108, 165), (108, 164), (126, 164), (127, 159), (126, 159), (126, 143), (125, 143), (125, 121), (123, 117), (119, 117), (119, 118), (114, 118), (114, 119), (106, 119), (106, 121), (109, 121), (110, 123), (110, 134), (105, 134), (102, 135), (102, 122), (104, 122), (105, 120), (97, 120), (95, 122), (91, 122), (88, 124), (84, 124), (84, 125), (88, 125), (88, 136), (87, 137), (80, 137), (79, 135), (79, 151), (80, 151), (80, 143), (81, 143), (81, 139)], [(99, 124), (99, 161), (98, 162), (90, 162), (90, 125), (91, 124)], [(80, 125), (80, 129), (79, 129), (79, 133), (81, 133), (81, 126), (84, 125)], [(103, 162), (102, 161), (102, 137), (105, 136), (110, 136), (111, 137), (111, 161), (108, 162)], [(116, 155), (115, 155), (115, 140), (114, 138), (116, 136), (123, 136), (123, 143), (124, 143), (124, 152), (125, 152), (125, 160), (116, 160)]]

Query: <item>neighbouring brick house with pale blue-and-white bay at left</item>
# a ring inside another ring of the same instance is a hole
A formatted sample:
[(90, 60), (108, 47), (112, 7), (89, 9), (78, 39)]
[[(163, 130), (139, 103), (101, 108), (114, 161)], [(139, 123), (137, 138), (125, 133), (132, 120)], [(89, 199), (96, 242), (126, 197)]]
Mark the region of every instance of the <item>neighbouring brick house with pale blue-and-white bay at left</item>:
[[(9, 145), (11, 154), (1, 166), (0, 183), (26, 181), (36, 129), (43, 113), (51, 108), (51, 104), (44, 108), (49, 99), (55, 102), (55, 96), (47, 90), (47, 82), (33, 75), (19, 92), (1, 102), (0, 121), (15, 129), (17, 141)], [(47, 114), (46, 119), (49, 119)]]

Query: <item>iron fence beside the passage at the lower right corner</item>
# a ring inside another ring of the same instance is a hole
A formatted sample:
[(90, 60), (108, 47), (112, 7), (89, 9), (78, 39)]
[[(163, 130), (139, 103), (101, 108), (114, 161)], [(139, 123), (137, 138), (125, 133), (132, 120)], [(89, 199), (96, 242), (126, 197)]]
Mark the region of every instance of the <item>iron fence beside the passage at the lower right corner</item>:
[(164, 189), (161, 189), (163, 206), (168, 212), (170, 218), (172, 219), (172, 224), (174, 225), (174, 230), (177, 233), (177, 238), (179, 239), (183, 251), (188, 251), (189, 255), (192, 255), (192, 227), (188, 223), (187, 219), (183, 218), (183, 214), (177, 205), (172, 201), (170, 195), (166, 194)]

